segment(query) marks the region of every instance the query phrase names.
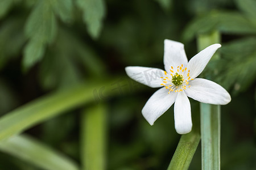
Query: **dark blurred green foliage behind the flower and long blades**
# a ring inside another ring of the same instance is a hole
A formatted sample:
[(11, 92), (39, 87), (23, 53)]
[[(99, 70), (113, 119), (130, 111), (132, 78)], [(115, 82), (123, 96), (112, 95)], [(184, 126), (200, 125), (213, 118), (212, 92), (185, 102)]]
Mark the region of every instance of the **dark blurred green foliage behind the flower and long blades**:
[[(163, 69), (164, 39), (182, 42), (190, 59), (197, 37), (212, 32), (220, 35), (221, 58), (204, 74), (232, 95), (221, 107), (221, 168), (256, 169), (254, 0), (1, 0), (0, 115), (56, 91), (97, 84), (86, 91), (90, 102), (23, 133), (81, 165), (81, 112), (104, 103), (105, 169), (167, 169), (180, 139), (174, 109), (150, 126), (141, 110), (155, 89), (130, 80), (125, 67)], [(110, 79), (118, 93), (99, 95)], [(199, 102), (189, 100), (199, 116)], [(199, 144), (189, 169), (200, 168)], [(0, 169), (42, 167), (0, 149)]]

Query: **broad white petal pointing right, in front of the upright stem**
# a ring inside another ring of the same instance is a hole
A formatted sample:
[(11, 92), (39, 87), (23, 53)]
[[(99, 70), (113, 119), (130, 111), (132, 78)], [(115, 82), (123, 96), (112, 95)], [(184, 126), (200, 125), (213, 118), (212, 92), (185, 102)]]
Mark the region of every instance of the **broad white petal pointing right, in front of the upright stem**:
[(209, 104), (228, 104), (231, 101), (229, 93), (219, 84), (207, 79), (196, 78), (188, 84), (185, 90), (188, 97)]

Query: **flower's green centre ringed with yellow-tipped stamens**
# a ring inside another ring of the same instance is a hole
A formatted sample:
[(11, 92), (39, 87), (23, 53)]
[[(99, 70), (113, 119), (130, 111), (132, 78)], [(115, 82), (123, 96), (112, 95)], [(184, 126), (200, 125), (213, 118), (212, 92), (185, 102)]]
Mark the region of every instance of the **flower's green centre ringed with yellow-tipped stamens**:
[(187, 67), (183, 68), (183, 65), (178, 66), (175, 73), (174, 67), (171, 66), (170, 71), (170, 74), (164, 71), (164, 75), (166, 75), (166, 77), (161, 77), (163, 79), (163, 83), (161, 85), (169, 90), (168, 94), (170, 94), (171, 91), (180, 92), (190, 87), (186, 85), (188, 85), (189, 81), (193, 79), (189, 76), (190, 70), (187, 71)]

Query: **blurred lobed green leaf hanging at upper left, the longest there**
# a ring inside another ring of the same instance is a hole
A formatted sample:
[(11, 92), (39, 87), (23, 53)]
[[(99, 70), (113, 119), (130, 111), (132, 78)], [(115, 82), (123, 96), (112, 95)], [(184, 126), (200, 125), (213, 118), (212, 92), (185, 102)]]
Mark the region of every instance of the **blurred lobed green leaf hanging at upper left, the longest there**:
[(25, 27), (26, 36), (30, 39), (24, 49), (22, 61), (25, 70), (42, 59), (46, 45), (54, 40), (56, 32), (56, 18), (51, 3), (38, 0)]

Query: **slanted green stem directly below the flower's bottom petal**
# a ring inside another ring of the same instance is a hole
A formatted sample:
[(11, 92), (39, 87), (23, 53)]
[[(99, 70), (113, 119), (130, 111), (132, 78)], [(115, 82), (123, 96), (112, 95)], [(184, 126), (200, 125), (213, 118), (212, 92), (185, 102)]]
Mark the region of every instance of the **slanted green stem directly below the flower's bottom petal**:
[(195, 129), (188, 134), (181, 135), (179, 144), (167, 170), (188, 169), (199, 142), (200, 134)]

